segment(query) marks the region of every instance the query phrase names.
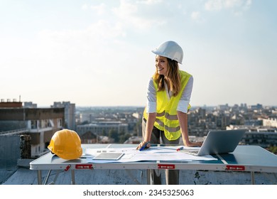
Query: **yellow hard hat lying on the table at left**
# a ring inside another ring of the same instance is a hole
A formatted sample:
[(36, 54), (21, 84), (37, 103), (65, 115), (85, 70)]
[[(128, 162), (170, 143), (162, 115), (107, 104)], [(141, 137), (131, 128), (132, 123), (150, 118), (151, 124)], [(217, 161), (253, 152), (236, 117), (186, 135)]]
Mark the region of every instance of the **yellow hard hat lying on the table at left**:
[(82, 156), (80, 136), (70, 129), (56, 131), (52, 136), (48, 149), (66, 160), (77, 159)]

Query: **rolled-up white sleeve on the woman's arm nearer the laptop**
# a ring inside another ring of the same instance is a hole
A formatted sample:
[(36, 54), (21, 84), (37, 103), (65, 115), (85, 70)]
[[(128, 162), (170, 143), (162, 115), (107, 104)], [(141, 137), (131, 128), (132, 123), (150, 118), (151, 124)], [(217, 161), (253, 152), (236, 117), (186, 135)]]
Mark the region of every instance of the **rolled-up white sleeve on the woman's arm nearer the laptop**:
[(178, 103), (178, 107), (177, 107), (178, 111), (188, 113), (188, 106), (190, 104), (192, 87), (193, 87), (193, 77), (190, 76), (190, 79), (188, 80), (188, 83), (185, 86), (185, 89), (183, 90), (180, 101)]

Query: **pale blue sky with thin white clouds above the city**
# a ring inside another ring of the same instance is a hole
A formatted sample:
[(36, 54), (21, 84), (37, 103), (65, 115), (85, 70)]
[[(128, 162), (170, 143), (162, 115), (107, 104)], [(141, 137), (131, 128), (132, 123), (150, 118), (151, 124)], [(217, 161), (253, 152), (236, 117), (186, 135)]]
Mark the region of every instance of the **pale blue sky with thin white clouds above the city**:
[(277, 105), (275, 0), (0, 0), (0, 98), (144, 106), (176, 41), (192, 106)]

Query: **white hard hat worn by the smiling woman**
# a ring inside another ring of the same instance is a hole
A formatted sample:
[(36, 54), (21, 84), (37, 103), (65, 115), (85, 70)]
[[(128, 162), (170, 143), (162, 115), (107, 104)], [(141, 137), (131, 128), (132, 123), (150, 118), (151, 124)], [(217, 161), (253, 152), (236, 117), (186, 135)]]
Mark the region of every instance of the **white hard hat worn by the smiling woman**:
[(152, 50), (152, 53), (165, 58), (170, 58), (178, 63), (182, 63), (183, 61), (183, 50), (175, 41), (166, 41), (165, 43), (162, 43), (156, 48), (156, 50)]

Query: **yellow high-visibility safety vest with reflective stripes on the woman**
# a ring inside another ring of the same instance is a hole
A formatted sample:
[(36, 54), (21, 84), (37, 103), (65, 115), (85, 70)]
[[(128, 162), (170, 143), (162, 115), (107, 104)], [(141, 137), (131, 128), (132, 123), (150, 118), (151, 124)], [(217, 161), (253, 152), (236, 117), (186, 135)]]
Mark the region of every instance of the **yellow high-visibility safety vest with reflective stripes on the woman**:
[[(177, 107), (180, 97), (182, 95), (185, 86), (190, 79), (190, 74), (188, 72), (179, 70), (180, 80), (181, 80), (181, 92), (178, 93), (175, 97), (170, 97), (166, 95), (166, 91), (158, 91), (158, 85), (155, 81), (154, 87), (156, 88), (156, 97), (157, 97), (157, 113), (156, 113), (156, 121), (154, 126), (161, 131), (164, 131), (165, 137), (168, 140), (176, 140), (180, 137), (180, 124), (177, 117)], [(190, 109), (190, 104), (188, 109)], [(146, 113), (146, 109), (144, 109), (143, 117), (147, 120), (148, 114)]]

